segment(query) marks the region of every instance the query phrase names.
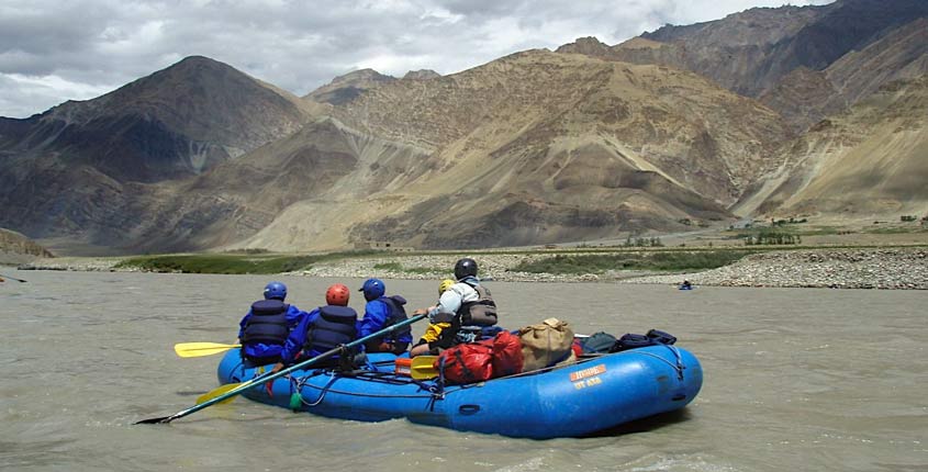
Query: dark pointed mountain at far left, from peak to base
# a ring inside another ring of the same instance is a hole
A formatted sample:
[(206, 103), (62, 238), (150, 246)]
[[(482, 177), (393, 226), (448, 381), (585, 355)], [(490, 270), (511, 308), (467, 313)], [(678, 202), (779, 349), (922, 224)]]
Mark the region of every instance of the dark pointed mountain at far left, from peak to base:
[[(123, 207), (299, 130), (318, 105), (204, 57), (26, 120), (0, 119), (0, 225), (103, 246)], [(98, 237), (97, 235), (108, 235)]]

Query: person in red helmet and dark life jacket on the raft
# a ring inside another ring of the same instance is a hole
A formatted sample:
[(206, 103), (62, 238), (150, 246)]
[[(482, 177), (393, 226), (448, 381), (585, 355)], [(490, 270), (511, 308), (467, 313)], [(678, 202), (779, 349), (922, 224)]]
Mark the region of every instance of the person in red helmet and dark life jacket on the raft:
[[(278, 372), (305, 359), (316, 357), (357, 338), (358, 312), (348, 306), (350, 290), (336, 283), (325, 291), (325, 306), (320, 306), (303, 317), (290, 331), (280, 351), (280, 362), (273, 367)], [(351, 356), (354, 357), (354, 356)], [(333, 367), (339, 357), (323, 359), (315, 367)]]

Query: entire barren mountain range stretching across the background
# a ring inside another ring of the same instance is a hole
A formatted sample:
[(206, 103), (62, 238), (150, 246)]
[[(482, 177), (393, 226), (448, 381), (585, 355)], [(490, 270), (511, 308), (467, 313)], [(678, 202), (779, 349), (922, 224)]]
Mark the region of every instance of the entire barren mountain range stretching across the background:
[(302, 99), (192, 57), (0, 119), (0, 226), (112, 254), (524, 246), (736, 215), (920, 214), (925, 5), (753, 9), (448, 76), (359, 70)]

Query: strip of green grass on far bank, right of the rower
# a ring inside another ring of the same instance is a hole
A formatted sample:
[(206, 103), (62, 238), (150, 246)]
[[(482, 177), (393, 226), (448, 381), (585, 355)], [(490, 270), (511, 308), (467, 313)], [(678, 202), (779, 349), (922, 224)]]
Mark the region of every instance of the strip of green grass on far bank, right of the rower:
[(557, 255), (512, 270), (533, 273), (604, 273), (610, 270), (706, 270), (753, 254), (749, 250), (642, 251), (614, 255)]

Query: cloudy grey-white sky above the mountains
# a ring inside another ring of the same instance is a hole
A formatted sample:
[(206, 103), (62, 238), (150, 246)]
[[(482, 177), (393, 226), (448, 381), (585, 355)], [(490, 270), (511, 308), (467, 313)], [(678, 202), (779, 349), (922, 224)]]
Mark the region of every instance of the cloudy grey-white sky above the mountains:
[(0, 116), (86, 100), (191, 55), (299, 95), (361, 68), (441, 75), (582, 36), (834, 0), (0, 0)]

